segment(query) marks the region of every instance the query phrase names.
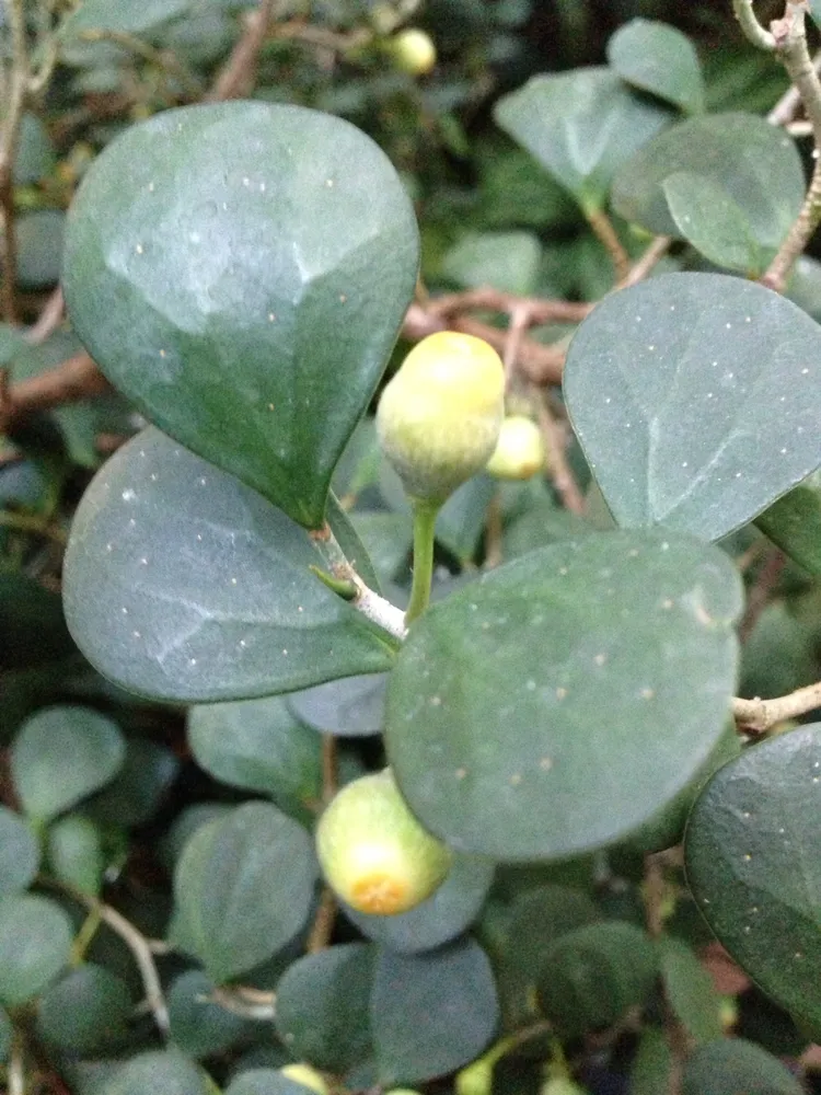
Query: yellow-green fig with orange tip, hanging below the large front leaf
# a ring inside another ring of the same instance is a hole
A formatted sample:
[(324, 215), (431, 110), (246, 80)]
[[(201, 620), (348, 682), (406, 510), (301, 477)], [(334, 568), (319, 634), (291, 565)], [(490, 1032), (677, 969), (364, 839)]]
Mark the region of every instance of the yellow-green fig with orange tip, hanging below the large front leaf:
[(427, 900), (451, 865), (451, 853), (413, 816), (390, 769), (343, 787), (320, 818), (316, 853), (344, 901), (380, 915)]

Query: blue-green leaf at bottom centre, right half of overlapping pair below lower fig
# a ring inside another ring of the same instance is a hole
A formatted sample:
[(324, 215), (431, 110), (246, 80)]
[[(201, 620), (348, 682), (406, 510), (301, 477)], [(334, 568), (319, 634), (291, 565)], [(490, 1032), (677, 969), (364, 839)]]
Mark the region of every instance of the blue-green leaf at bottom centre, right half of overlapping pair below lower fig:
[(473, 940), (425, 955), (380, 954), (371, 1030), (382, 1086), (461, 1069), (487, 1046), (498, 1019), (490, 964)]

